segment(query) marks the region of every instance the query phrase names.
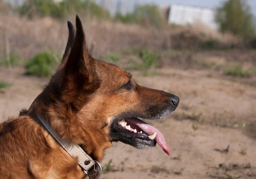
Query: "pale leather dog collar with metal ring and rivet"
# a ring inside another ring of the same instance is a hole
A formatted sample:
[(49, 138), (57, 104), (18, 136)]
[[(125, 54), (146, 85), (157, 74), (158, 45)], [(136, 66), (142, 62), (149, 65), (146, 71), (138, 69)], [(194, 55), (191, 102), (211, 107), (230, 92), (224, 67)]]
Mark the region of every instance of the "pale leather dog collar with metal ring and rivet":
[(44, 127), (49, 131), (52, 137), (64, 148), (67, 153), (71, 156), (78, 157), (78, 163), (80, 167), (84, 170), (84, 173), (89, 177), (89, 179), (98, 179), (102, 173), (102, 166), (96, 160), (93, 160), (84, 150), (76, 144), (70, 141), (61, 139), (58, 134), (52, 129), (52, 127), (44, 120), (44, 117), (40, 114), (36, 114), (38, 119), (42, 122)]

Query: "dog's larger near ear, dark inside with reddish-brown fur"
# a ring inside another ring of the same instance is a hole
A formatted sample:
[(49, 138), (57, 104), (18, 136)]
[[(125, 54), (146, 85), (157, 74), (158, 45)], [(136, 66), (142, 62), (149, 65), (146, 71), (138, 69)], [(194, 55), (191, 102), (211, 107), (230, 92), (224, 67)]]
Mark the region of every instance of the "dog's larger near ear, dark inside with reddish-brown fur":
[(76, 37), (63, 69), (62, 80), (63, 98), (76, 111), (85, 98), (99, 88), (94, 63), (87, 51), (81, 20), (76, 16)]

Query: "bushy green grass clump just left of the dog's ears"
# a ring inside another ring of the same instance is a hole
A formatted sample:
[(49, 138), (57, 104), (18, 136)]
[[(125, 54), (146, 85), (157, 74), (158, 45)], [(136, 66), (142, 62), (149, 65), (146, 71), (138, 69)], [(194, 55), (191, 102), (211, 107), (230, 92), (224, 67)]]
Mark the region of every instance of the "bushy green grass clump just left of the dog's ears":
[(49, 77), (60, 61), (61, 57), (53, 51), (41, 52), (26, 62), (26, 74), (38, 77)]

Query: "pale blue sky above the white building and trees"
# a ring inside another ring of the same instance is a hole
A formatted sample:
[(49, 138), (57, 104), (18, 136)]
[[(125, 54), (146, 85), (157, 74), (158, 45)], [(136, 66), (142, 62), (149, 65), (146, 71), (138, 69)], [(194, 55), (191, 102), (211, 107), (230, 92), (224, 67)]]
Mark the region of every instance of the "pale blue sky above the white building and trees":
[[(198, 6), (202, 8), (215, 8), (221, 5), (223, 0), (140, 0), (141, 2), (163, 3), (163, 4), (180, 4), (187, 6)], [(256, 16), (256, 0), (248, 0), (253, 14)]]

